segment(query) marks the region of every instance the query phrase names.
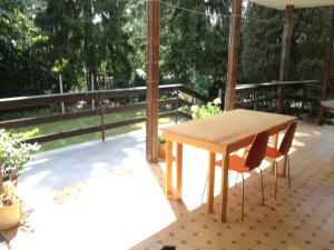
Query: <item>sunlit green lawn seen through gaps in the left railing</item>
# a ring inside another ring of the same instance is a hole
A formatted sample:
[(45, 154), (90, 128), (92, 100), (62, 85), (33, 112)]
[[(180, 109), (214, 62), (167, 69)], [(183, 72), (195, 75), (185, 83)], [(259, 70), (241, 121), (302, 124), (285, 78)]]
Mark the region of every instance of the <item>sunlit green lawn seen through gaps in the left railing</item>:
[[(121, 113), (112, 113), (112, 114), (106, 114), (105, 116), (105, 123), (111, 123), (116, 121), (121, 121), (121, 120), (127, 120), (130, 118), (136, 118), (136, 117), (141, 117), (144, 116), (145, 111), (128, 111), (128, 112), (121, 112)], [(169, 118), (164, 118), (159, 119), (159, 123), (168, 123), (171, 122), (173, 119)], [(68, 120), (68, 121), (59, 121), (59, 122), (52, 122), (52, 123), (46, 123), (46, 124), (40, 124), (40, 126), (35, 126), (35, 127), (26, 127), (21, 128), (18, 130), (14, 130), (16, 132), (26, 132), (29, 130), (37, 130), (36, 136), (40, 134), (48, 134), (48, 133), (57, 133), (61, 131), (67, 131), (67, 130), (72, 130), (72, 129), (78, 129), (78, 128), (87, 128), (91, 126), (99, 126), (100, 124), (100, 117), (95, 116), (95, 117), (89, 117), (89, 118), (80, 118), (80, 119), (73, 119), (73, 120)], [(116, 134), (121, 134), (139, 129), (145, 128), (145, 122), (132, 124), (132, 126), (126, 126), (126, 127), (120, 127), (116, 129), (110, 129), (106, 130), (106, 138), (116, 136)], [(91, 140), (101, 140), (101, 132), (95, 132), (95, 133), (87, 133), (78, 137), (71, 137), (71, 138), (66, 138), (66, 139), (59, 139), (50, 142), (46, 142), (41, 144), (40, 151), (47, 151), (51, 149), (57, 149), (61, 148), (69, 144), (75, 144), (75, 143), (81, 143), (86, 141), (91, 141)]]

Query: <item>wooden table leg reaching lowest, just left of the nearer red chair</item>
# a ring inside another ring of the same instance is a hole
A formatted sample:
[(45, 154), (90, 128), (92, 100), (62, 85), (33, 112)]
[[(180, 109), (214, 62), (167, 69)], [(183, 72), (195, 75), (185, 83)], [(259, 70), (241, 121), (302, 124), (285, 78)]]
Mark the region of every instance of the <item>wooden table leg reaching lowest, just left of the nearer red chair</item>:
[(224, 153), (222, 160), (222, 184), (220, 184), (220, 220), (226, 222), (227, 214), (227, 191), (228, 191), (228, 163), (229, 154)]

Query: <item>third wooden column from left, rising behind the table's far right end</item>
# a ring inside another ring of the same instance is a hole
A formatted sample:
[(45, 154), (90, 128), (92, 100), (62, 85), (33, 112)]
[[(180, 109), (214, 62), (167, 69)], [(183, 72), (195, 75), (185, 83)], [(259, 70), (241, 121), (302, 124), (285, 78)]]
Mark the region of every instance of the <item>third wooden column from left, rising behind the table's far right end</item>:
[[(282, 53), (281, 53), (281, 66), (279, 66), (279, 81), (287, 80), (288, 72), (288, 61), (289, 61), (289, 50), (291, 50), (291, 38), (293, 31), (293, 16), (294, 6), (286, 6), (285, 8), (285, 21), (283, 30), (283, 41), (282, 41)], [(284, 109), (284, 87), (279, 87), (277, 90), (277, 111), (283, 112)]]

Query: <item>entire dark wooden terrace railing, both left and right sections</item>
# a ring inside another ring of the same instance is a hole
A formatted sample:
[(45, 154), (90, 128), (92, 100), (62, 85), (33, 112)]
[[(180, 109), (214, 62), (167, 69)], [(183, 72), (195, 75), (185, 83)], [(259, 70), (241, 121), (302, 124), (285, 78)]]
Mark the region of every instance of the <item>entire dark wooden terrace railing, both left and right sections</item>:
[[(238, 84), (236, 87), (236, 108), (263, 110), (277, 112), (277, 89), (285, 88), (285, 104), (284, 112), (295, 116), (312, 114), (316, 112), (320, 107), (320, 92), (321, 86), (317, 81), (285, 81), (285, 82), (266, 82), (254, 84)], [(168, 84), (160, 86), (160, 100), (159, 107), (161, 112), (159, 117), (171, 117), (178, 121), (180, 117), (191, 119), (191, 116), (187, 111), (180, 111), (180, 107), (189, 107), (194, 103), (204, 103), (210, 101), (210, 99), (204, 94), (200, 94), (188, 87), (183, 84)], [(180, 94), (183, 93), (183, 94)], [(100, 132), (101, 139), (105, 140), (105, 131), (124, 126), (130, 126), (146, 120), (145, 113), (131, 119), (125, 119), (117, 122), (106, 123), (105, 116), (126, 112), (126, 111), (145, 111), (146, 102), (146, 87), (127, 88), (127, 89), (114, 89), (114, 90), (100, 90), (94, 92), (77, 92), (77, 93), (63, 93), (63, 94), (46, 94), (33, 97), (20, 97), (20, 98), (7, 98), (0, 99), (0, 114), (8, 112), (16, 112), (18, 110), (27, 110), (31, 108), (41, 108), (66, 103), (68, 107), (77, 107), (78, 102), (89, 103), (95, 100), (96, 108), (92, 110), (87, 104), (86, 109), (73, 108), (67, 110), (66, 113), (59, 113), (60, 109), (56, 109), (57, 112), (45, 116), (32, 116), (27, 118), (13, 118), (2, 119), (0, 121), (0, 128), (17, 129), (22, 127), (39, 126), (49, 122), (67, 121), (72, 119), (80, 119), (87, 117), (99, 117), (99, 124), (86, 128), (76, 128), (68, 131), (60, 131), (51, 134), (41, 134), (28, 139), (29, 142), (48, 142), (58, 139)], [(183, 97), (187, 96), (186, 99)], [(134, 102), (119, 101), (121, 99), (136, 98)], [(141, 100), (141, 101), (140, 101)]]

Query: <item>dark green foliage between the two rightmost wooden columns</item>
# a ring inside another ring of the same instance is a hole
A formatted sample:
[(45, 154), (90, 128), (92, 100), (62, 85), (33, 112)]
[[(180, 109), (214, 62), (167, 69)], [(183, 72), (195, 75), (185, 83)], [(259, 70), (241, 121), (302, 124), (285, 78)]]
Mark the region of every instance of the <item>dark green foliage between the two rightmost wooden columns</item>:
[(296, 10), (289, 79), (323, 79), (331, 19), (332, 8)]

